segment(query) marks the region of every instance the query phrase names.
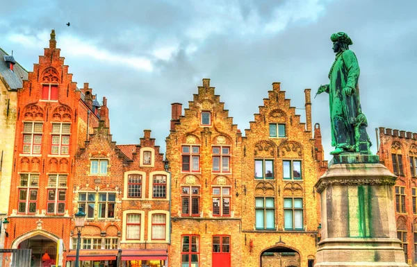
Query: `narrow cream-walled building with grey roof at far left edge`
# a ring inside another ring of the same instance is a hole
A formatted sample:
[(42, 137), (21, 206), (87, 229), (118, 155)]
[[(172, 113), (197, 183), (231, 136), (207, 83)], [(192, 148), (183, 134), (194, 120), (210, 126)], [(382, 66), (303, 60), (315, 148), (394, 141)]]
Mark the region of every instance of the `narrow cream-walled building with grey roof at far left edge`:
[[(0, 49), (0, 230), (3, 218), (8, 212), (10, 182), (13, 170), (15, 146), (15, 125), (17, 119), (17, 89), (22, 88), (28, 72)], [(0, 249), (4, 245), (5, 234), (0, 231)], [(0, 253), (0, 264), (2, 261)]]

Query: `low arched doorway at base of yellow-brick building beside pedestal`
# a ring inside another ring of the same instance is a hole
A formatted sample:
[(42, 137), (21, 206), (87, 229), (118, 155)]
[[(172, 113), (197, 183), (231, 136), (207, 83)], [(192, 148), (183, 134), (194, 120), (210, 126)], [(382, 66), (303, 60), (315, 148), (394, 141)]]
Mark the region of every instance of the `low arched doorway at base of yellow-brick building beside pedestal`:
[(275, 246), (261, 253), (261, 267), (300, 267), (300, 253), (284, 246)]

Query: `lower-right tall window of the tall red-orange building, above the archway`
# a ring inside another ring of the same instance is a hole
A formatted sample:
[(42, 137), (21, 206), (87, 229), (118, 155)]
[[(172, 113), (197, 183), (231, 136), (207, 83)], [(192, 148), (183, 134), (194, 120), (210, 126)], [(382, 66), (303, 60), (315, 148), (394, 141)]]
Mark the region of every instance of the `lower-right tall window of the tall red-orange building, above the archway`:
[(50, 174), (48, 181), (47, 214), (64, 214), (67, 175)]

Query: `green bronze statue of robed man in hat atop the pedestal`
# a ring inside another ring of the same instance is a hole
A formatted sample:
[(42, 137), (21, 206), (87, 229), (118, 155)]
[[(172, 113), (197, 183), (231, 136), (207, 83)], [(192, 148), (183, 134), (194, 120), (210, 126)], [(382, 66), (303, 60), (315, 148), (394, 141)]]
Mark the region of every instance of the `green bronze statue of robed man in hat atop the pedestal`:
[(359, 64), (356, 55), (349, 50), (352, 40), (342, 32), (332, 34), (330, 40), (336, 53), (329, 71), (330, 83), (321, 85), (317, 91), (317, 94), (329, 94), (332, 146), (336, 147), (330, 154), (370, 154), (368, 121), (359, 98)]

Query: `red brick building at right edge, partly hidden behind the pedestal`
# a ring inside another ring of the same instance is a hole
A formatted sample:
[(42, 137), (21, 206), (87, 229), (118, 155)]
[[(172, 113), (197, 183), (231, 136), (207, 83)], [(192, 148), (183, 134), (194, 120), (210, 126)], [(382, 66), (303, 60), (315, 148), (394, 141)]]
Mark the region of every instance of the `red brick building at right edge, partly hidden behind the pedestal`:
[(398, 176), (395, 196), (397, 235), (405, 261), (417, 264), (417, 133), (379, 127), (379, 160)]

